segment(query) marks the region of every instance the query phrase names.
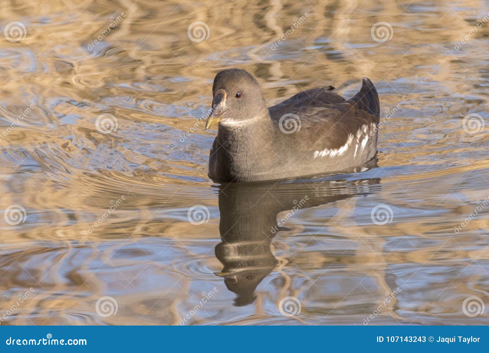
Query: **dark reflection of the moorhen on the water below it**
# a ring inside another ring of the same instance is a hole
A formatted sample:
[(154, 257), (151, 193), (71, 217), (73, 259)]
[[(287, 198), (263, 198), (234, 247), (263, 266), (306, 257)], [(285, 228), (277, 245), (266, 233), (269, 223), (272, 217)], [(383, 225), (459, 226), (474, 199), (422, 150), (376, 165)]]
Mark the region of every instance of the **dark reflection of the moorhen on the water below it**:
[[(374, 166), (375, 160), (368, 165)], [(365, 169), (364, 166), (362, 170)], [(347, 176), (348, 179), (341, 179)], [(244, 306), (255, 300), (256, 287), (278, 264), (271, 249), (272, 239), (298, 209), (368, 195), (380, 187), (379, 181), (355, 180), (355, 175), (349, 174), (333, 180), (219, 186), (222, 242), (215, 252), (223, 269), (216, 274), (224, 278), (229, 291), (237, 294), (235, 305)], [(282, 211), (289, 212), (278, 220), (277, 214)]]

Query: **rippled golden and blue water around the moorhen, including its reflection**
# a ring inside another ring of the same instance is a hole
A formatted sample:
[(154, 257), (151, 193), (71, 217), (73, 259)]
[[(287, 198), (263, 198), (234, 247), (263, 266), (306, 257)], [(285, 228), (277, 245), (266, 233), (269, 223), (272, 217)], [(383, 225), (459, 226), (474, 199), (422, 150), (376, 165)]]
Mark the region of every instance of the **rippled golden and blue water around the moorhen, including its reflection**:
[[(487, 324), (488, 12), (2, 0), (1, 324)], [(202, 117), (227, 67), (269, 105), (370, 78), (377, 163), (213, 183)]]

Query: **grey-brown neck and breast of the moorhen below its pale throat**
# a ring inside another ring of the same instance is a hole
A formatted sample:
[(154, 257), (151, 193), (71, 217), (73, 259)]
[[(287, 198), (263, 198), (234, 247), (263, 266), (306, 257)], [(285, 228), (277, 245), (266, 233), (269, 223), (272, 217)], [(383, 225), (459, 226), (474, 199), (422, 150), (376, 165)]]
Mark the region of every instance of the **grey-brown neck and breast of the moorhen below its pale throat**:
[(274, 138), (275, 129), (268, 111), (247, 120), (221, 122), (216, 145), (221, 173), (240, 181), (244, 175), (267, 170), (263, 155), (273, 154)]

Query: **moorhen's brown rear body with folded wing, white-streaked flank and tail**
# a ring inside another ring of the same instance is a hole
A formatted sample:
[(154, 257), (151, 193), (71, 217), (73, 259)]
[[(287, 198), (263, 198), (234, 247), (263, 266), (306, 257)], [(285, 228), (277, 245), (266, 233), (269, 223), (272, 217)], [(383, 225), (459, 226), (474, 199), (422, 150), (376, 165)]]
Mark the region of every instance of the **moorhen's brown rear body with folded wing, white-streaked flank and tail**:
[(341, 170), (374, 157), (380, 106), (373, 83), (363, 79), (348, 100), (332, 89), (302, 91), (269, 108), (274, 141), (288, 169), (308, 174)]

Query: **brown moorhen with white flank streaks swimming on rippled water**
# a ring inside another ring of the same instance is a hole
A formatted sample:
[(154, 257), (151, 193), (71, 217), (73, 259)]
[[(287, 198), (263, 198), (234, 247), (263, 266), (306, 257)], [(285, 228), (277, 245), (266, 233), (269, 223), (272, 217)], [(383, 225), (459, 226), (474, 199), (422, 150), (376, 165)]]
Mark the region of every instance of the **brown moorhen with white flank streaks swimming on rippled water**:
[(380, 103), (363, 78), (345, 99), (326, 86), (297, 93), (267, 108), (248, 72), (220, 71), (212, 86), (205, 128), (218, 125), (209, 154), (209, 177), (219, 182), (293, 179), (360, 166), (377, 152)]

